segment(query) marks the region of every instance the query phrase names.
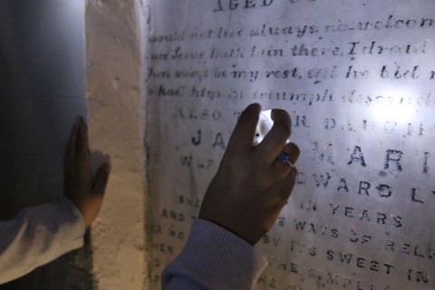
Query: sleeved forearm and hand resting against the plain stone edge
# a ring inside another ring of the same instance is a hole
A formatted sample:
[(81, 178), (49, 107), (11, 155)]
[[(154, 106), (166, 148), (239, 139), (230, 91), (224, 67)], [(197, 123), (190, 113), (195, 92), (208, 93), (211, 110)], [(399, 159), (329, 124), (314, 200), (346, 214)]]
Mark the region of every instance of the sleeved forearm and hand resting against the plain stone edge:
[(82, 247), (85, 227), (102, 206), (109, 173), (110, 165), (103, 164), (92, 179), (87, 127), (78, 118), (65, 153), (62, 202), (25, 208), (0, 222), (0, 284)]

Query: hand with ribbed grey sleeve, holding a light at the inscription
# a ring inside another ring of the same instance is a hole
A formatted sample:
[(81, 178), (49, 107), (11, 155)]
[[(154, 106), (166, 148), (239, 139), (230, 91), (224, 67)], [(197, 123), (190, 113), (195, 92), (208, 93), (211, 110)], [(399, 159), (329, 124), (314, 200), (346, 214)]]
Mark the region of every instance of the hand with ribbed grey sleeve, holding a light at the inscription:
[[(261, 108), (243, 111), (203, 199), (186, 246), (162, 276), (164, 289), (251, 289), (266, 266), (253, 246), (273, 226), (295, 185), (299, 156), (286, 111), (253, 144)], [(290, 162), (278, 159), (285, 152)]]

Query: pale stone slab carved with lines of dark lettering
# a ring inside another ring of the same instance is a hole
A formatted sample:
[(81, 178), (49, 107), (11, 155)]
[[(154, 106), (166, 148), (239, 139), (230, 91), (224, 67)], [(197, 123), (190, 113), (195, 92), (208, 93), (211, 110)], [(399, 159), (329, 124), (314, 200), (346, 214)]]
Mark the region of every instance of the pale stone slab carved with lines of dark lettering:
[(435, 4), (156, 1), (150, 9), (156, 288), (240, 111), (259, 102), (290, 112), (302, 155), (295, 192), (257, 245), (269, 266), (256, 289), (435, 289)]

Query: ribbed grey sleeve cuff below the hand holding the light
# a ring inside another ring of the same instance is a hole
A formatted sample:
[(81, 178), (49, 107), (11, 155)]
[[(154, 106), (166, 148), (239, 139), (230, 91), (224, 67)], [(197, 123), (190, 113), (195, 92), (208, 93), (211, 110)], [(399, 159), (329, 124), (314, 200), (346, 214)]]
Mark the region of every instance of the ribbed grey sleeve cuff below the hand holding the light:
[(266, 259), (244, 239), (205, 219), (192, 223), (189, 239), (163, 272), (165, 290), (251, 289)]

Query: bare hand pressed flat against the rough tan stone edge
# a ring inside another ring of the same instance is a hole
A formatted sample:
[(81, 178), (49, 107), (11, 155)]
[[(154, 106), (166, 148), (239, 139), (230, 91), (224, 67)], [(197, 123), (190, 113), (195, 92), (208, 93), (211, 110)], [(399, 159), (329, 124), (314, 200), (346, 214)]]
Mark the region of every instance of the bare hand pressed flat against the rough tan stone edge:
[(102, 164), (92, 179), (88, 129), (78, 117), (65, 153), (63, 194), (82, 212), (86, 227), (91, 226), (102, 207), (110, 171), (109, 163)]

